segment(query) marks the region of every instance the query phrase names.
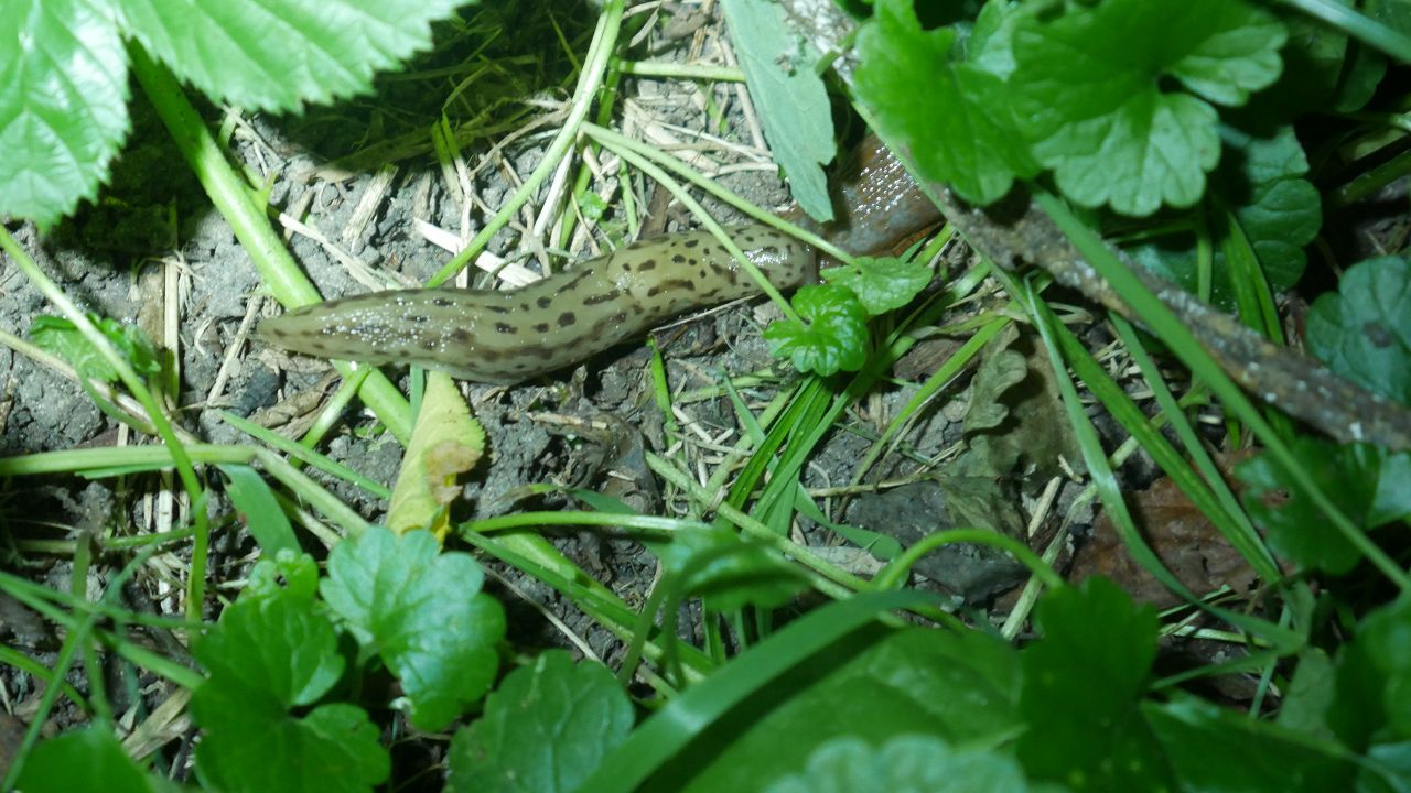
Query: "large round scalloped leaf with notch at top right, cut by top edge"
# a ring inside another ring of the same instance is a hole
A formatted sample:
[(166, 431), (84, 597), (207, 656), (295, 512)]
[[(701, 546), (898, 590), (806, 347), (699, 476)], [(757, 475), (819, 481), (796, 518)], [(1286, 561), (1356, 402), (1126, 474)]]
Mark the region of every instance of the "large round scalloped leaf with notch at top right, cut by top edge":
[[(1070, 4), (1015, 27), (1010, 95), (1040, 164), (1084, 206), (1191, 206), (1219, 161), (1216, 113), (1280, 73), (1284, 27), (1240, 0)], [(1173, 78), (1192, 93), (1163, 90)], [(1198, 95), (1198, 96), (1195, 96)]]

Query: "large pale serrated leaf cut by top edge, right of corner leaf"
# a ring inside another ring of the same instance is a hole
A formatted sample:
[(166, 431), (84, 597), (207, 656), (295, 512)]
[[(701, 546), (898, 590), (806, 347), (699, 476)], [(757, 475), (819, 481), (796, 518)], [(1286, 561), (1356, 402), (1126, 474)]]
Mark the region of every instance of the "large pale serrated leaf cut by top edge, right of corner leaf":
[(111, 0), (176, 76), (220, 102), (299, 110), (367, 93), (373, 75), (430, 47), (466, 0)]

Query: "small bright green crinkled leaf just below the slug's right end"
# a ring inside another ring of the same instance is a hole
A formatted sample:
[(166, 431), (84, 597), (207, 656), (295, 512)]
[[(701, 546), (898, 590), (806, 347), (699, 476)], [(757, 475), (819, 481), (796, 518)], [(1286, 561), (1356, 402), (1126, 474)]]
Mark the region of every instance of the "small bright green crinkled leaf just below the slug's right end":
[(789, 357), (799, 371), (821, 375), (856, 371), (868, 358), (868, 316), (856, 295), (842, 286), (801, 286), (793, 308), (807, 320), (780, 320), (765, 329), (776, 357)]

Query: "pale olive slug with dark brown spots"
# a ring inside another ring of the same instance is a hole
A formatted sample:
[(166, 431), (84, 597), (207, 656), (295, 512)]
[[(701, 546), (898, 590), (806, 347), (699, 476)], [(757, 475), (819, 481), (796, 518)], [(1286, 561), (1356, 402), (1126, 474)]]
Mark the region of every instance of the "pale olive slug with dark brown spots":
[[(766, 226), (731, 231), (769, 281), (816, 277), (810, 246)], [(323, 358), (412, 363), (511, 384), (579, 363), (690, 309), (759, 286), (706, 231), (634, 243), (508, 291), (405, 289), (305, 306), (260, 323), (271, 344)]]

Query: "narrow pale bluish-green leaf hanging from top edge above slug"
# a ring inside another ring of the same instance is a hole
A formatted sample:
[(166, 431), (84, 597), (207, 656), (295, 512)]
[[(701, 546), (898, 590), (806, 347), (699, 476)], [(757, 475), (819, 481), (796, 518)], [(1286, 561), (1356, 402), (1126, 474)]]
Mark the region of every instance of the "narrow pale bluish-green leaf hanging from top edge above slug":
[(739, 55), (765, 137), (789, 176), (794, 200), (820, 223), (832, 220), (823, 167), (832, 161), (832, 107), (814, 71), (818, 51), (793, 31), (772, 0), (721, 0), (729, 40)]

